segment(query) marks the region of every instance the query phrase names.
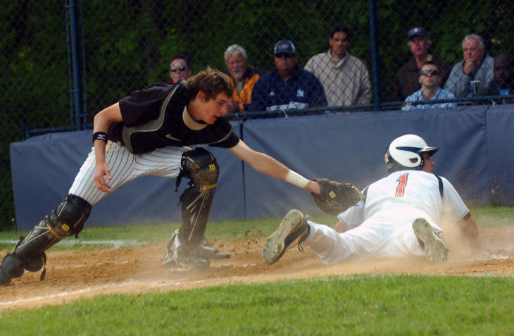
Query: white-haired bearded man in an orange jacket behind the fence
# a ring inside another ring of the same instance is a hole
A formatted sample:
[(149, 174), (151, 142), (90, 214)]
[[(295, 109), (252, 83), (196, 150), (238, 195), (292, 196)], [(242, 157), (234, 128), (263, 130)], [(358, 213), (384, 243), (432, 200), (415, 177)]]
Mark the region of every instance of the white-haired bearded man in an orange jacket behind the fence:
[(227, 63), (225, 73), (230, 75), (234, 85), (232, 101), (227, 106), (228, 113), (246, 112), (251, 104), (251, 91), (261, 78), (262, 72), (248, 66), (246, 50), (237, 44), (232, 44), (225, 50), (225, 63)]

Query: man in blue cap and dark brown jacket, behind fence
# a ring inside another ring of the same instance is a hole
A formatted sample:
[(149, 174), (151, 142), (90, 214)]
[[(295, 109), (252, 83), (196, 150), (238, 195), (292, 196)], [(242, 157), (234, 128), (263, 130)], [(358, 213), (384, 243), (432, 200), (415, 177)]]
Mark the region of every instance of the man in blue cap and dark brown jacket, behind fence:
[(420, 89), (418, 75), (423, 63), (432, 61), (441, 72), (441, 87), (448, 79), (451, 70), (450, 63), (435, 53), (429, 53), (432, 40), (423, 27), (415, 27), (408, 31), (408, 47), (413, 57), (403, 64), (394, 78), (394, 101), (404, 101), (410, 94)]

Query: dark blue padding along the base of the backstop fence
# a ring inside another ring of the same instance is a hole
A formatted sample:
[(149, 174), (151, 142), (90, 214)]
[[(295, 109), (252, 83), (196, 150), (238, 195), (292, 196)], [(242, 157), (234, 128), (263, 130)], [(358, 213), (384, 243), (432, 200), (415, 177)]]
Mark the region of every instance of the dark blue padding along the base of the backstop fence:
[[(468, 206), (514, 204), (514, 105), (256, 119), (232, 127), (251, 148), (306, 178), (361, 188), (387, 174), (387, 145), (414, 133), (440, 147), (434, 173), (450, 180)], [(66, 132), (11, 144), (18, 230), (32, 229), (68, 194), (91, 136)], [(256, 172), (226, 149), (206, 149), (220, 166), (211, 220), (282, 218), (289, 209), (320, 214), (308, 192)], [(86, 225), (180, 222), (182, 188), (175, 192), (174, 179), (138, 178), (96, 204)]]

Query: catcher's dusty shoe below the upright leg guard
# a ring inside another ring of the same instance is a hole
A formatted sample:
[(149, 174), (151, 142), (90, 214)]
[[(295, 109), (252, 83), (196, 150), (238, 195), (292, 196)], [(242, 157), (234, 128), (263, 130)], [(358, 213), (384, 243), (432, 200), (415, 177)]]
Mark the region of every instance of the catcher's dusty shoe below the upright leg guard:
[(211, 262), (209, 259), (197, 254), (196, 251), (187, 253), (180, 244), (177, 229), (171, 235), (170, 242), (166, 246), (162, 265), (165, 268), (208, 268), (211, 266)]

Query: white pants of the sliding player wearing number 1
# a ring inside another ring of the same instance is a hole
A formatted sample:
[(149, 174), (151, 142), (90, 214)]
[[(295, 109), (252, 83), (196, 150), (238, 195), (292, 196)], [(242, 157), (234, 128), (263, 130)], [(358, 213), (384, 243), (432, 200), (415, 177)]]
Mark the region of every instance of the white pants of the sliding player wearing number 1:
[(423, 213), (410, 213), (401, 218), (396, 213), (392, 217), (370, 218), (360, 226), (342, 233), (308, 220), (311, 232), (303, 244), (310, 247), (326, 264), (344, 260), (424, 256), (424, 250), (412, 228), (413, 221), (416, 218), (425, 218), (439, 237), (442, 238), (443, 233), (431, 218), (422, 215)]

